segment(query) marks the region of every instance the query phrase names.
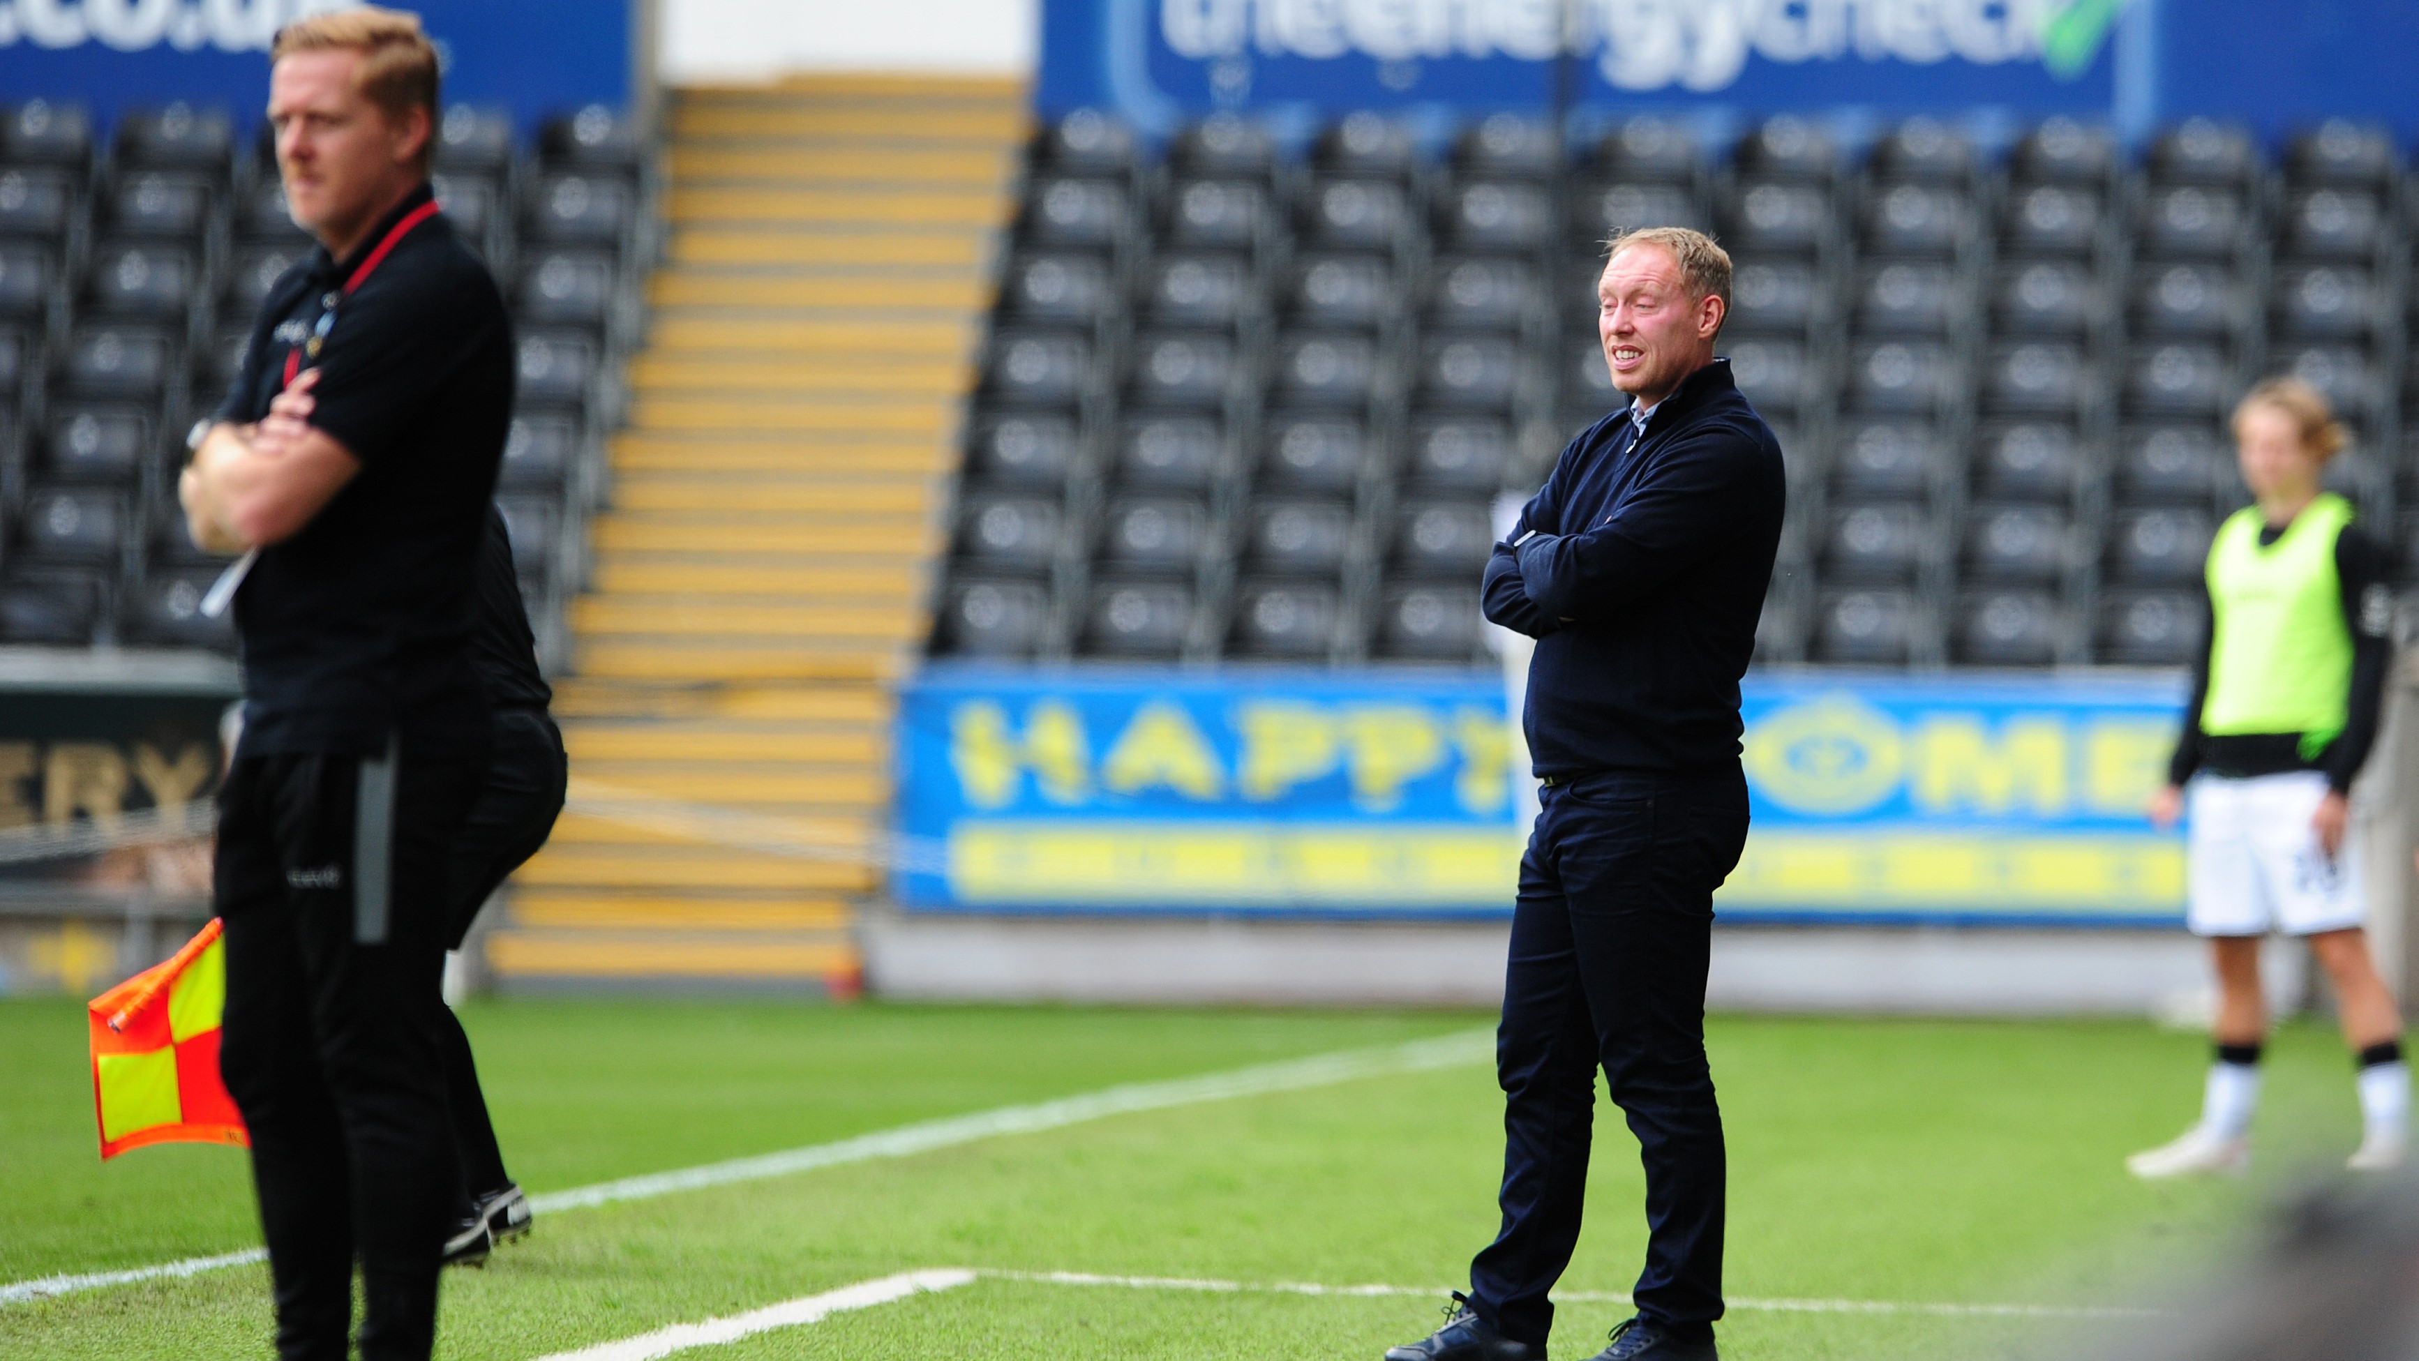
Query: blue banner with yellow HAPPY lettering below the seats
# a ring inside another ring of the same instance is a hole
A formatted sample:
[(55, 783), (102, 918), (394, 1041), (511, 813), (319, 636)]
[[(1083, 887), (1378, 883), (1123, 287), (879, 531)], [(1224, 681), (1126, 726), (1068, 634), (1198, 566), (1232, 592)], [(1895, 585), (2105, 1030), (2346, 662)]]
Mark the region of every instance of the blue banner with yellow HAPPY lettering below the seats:
[[(1749, 677), (1725, 921), (2175, 923), (2143, 805), (2182, 684)], [(936, 667), (900, 701), (893, 892), (926, 911), (1505, 916), (1485, 674)]]

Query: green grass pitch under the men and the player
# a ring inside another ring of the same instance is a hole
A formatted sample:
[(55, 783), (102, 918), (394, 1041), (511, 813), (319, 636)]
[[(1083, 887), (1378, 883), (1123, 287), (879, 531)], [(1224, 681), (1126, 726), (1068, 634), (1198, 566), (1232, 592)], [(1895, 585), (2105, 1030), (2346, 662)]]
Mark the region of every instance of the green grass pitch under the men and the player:
[[(513, 1175), (532, 1192), (825, 1143), (917, 1119), (1466, 1032), (1476, 1013), (498, 1001), (464, 1013)], [(2337, 1039), (2271, 1044), (2247, 1182), (2146, 1187), (2119, 1160), (2182, 1129), (2206, 1044), (2146, 1023), (1715, 1018), (1730, 1131), (1727, 1288), (1742, 1301), (2141, 1303), (2264, 1194), (2356, 1141)], [(0, 1003), (0, 1284), (259, 1243), (242, 1153), (99, 1165), (82, 1008)], [(1430, 1298), (977, 1279), (694, 1351), (774, 1356), (1347, 1356), (1434, 1322), (1495, 1228), (1502, 1098), (1485, 1064), (1120, 1114), (539, 1216), (450, 1272), (448, 1359), (525, 1361), (893, 1272), (980, 1267), (1434, 1286)], [(1589, 1226), (1563, 1281), (1628, 1288), (1635, 1143), (1604, 1105)], [(1589, 1356), (1618, 1303), (1565, 1303)], [(1986, 1356), (2044, 1325), (1734, 1308), (1732, 1359)], [(0, 1305), (0, 1356), (256, 1359), (264, 1267)]]

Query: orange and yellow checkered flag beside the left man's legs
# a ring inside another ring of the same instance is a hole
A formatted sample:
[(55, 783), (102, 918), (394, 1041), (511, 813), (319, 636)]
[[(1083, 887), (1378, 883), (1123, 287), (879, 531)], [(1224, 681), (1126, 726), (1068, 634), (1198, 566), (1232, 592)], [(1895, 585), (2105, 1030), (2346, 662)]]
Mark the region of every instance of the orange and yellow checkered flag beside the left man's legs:
[(249, 1143), (218, 1076), (227, 948), (213, 916), (164, 965), (92, 998), (92, 1105), (102, 1160), (145, 1143)]

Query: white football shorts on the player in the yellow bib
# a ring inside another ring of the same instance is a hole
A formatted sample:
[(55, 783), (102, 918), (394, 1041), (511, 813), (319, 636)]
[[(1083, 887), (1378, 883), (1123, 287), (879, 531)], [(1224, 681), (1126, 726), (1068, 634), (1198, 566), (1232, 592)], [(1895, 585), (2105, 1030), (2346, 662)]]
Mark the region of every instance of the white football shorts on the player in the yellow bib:
[(2361, 926), (2359, 820), (2329, 858), (2310, 817), (2327, 798), (2320, 771), (2281, 776), (2196, 776), (2184, 793), (2192, 829), (2184, 875), (2194, 936), (2315, 936)]

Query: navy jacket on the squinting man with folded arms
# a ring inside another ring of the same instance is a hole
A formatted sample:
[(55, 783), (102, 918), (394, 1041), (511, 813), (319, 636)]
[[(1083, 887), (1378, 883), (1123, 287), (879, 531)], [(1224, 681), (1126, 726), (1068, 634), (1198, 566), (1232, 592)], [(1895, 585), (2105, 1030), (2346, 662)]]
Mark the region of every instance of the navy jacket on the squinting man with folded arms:
[(1630, 440), (1623, 406), (1555, 459), (1495, 544), (1485, 614), (1536, 638), (1538, 776), (1739, 759), (1739, 677), (1780, 549), (1780, 442), (1713, 360)]

